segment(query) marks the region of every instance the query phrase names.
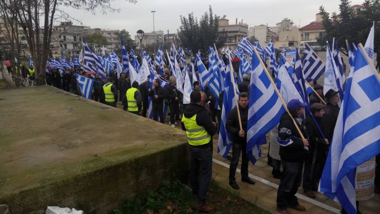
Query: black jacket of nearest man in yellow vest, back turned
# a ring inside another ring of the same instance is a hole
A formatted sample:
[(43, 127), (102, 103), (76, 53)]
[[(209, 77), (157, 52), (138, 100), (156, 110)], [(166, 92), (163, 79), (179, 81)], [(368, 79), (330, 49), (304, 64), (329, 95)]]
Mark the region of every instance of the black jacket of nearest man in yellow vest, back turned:
[[(189, 145), (189, 146), (191, 146), (191, 147), (211, 147), (212, 146), (212, 136), (216, 132), (216, 127), (212, 123), (212, 120), (211, 120), (210, 116), (207, 114), (205, 108), (203, 108), (199, 104), (189, 103), (183, 111), (183, 116), (185, 118), (192, 118), (192, 117), (194, 117), (194, 115), (197, 115), (197, 117), (195, 119), (197, 122), (197, 125), (205, 128), (207, 133), (211, 136), (211, 140), (210, 140), (210, 142), (208, 142), (208, 144), (204, 144), (201, 146), (192, 146), (192, 145)], [(186, 127), (183, 124), (183, 122), (181, 122), (181, 126), (182, 126), (182, 130), (185, 131)], [(210, 144), (211, 144), (211, 146), (210, 146)]]

